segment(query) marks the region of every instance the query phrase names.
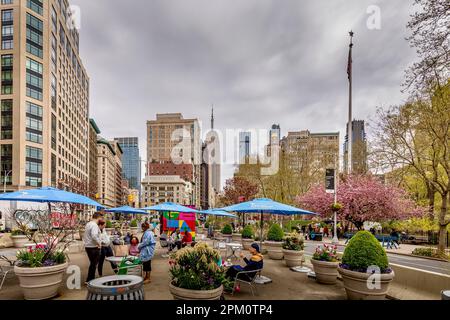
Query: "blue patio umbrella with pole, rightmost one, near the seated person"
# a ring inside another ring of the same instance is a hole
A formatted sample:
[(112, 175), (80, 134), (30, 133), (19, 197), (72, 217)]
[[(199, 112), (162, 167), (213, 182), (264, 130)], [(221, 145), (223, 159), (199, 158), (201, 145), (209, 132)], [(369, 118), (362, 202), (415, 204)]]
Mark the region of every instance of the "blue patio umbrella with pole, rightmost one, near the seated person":
[(261, 214), (261, 243), (262, 244), (262, 231), (264, 221), (264, 214), (281, 214), (281, 215), (317, 215), (310, 211), (302, 210), (296, 207), (289, 206), (284, 203), (279, 203), (271, 199), (255, 199), (248, 202), (235, 204), (229, 207), (222, 208), (221, 210), (227, 212), (238, 213), (260, 213)]

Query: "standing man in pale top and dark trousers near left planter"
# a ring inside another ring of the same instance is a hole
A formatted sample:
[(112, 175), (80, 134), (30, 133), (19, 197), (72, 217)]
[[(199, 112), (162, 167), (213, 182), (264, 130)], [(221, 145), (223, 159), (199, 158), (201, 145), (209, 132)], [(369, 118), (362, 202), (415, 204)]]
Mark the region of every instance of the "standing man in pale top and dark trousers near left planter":
[(86, 283), (95, 279), (95, 270), (100, 259), (102, 242), (98, 222), (101, 218), (102, 215), (99, 212), (94, 213), (92, 220), (86, 224), (86, 231), (84, 232), (84, 248), (90, 263)]

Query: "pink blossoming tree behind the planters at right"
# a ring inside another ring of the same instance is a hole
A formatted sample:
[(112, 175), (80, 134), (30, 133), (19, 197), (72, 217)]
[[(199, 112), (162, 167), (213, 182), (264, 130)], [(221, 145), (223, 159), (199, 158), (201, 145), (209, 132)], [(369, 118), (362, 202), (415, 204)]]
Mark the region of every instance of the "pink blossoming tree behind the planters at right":
[[(340, 220), (353, 223), (359, 230), (365, 221), (392, 221), (419, 217), (424, 209), (418, 207), (401, 188), (383, 184), (371, 175), (344, 177), (338, 186)], [(319, 213), (324, 218), (333, 214), (334, 195), (317, 185), (308, 193), (297, 197), (305, 209)]]

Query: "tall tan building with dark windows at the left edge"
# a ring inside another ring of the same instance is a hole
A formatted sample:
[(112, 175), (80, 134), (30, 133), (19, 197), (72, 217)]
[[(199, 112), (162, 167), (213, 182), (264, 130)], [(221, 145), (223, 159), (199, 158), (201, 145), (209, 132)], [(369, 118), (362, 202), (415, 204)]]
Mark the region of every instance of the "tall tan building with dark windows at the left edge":
[(88, 184), (89, 78), (67, 0), (1, 1), (6, 191)]

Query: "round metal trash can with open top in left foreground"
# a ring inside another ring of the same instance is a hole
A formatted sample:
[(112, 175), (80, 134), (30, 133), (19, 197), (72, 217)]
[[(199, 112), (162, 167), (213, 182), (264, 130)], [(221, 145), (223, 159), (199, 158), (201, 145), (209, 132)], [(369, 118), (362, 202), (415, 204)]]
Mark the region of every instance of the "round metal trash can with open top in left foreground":
[(144, 279), (138, 276), (110, 276), (87, 285), (86, 300), (145, 300)]

